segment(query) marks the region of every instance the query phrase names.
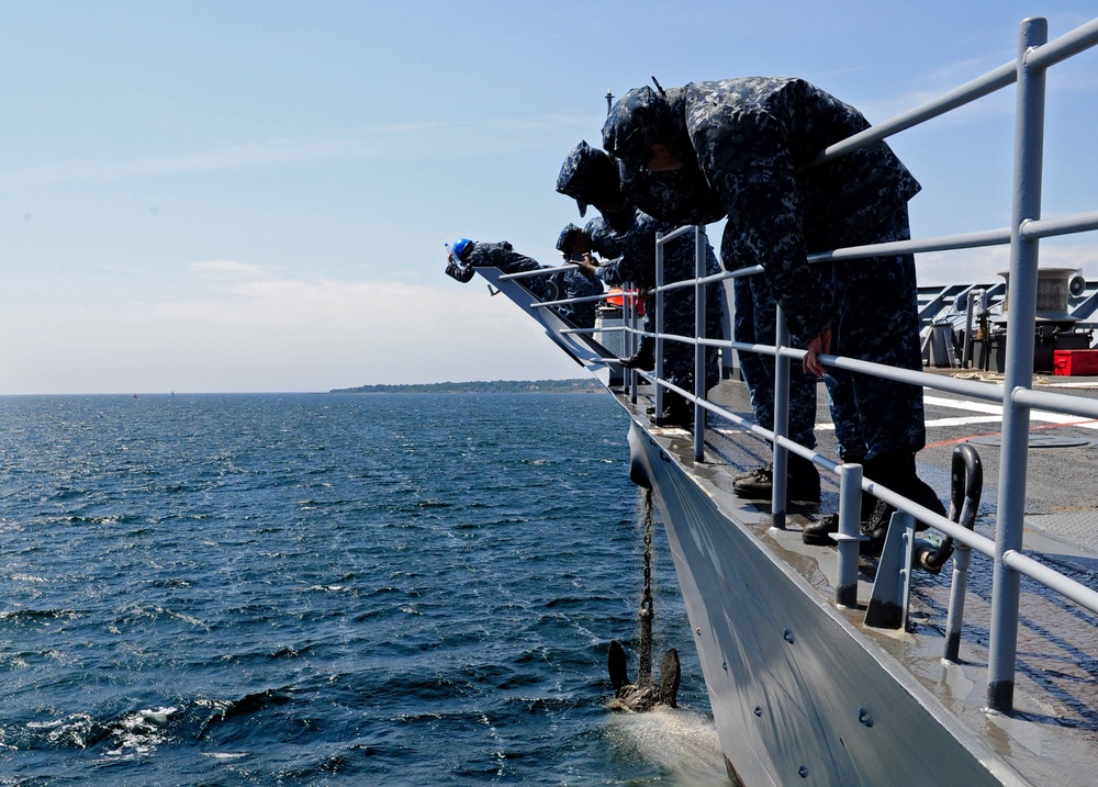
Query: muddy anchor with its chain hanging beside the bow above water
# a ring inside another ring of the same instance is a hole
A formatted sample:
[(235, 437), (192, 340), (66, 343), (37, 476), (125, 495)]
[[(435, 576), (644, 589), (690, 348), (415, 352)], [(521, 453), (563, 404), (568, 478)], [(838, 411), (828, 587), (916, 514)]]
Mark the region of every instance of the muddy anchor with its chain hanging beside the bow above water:
[(614, 687), (610, 707), (618, 710), (641, 712), (657, 706), (677, 707), (681, 668), (679, 651), (674, 648), (663, 654), (660, 663), (660, 682), (652, 682), (652, 620), (656, 607), (652, 604), (652, 491), (645, 491), (645, 589), (640, 602), (640, 666), (637, 681), (630, 683), (627, 670), (628, 656), (621, 643), (610, 640), (606, 666)]

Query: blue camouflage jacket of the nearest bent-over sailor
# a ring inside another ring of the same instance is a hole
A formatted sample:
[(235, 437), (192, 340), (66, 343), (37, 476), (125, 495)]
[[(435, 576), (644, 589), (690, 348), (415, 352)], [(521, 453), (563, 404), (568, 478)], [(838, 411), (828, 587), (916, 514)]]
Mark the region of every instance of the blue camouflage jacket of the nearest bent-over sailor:
[[(668, 91), (668, 101), (671, 142), (687, 172), (679, 177), (696, 183), (688, 173), (699, 172), (728, 218), (725, 267), (762, 266), (791, 330), (818, 335), (831, 323), (832, 278), (809, 269), (807, 255), (881, 240), (882, 223), (918, 193), (919, 183), (883, 142), (806, 168), (869, 123), (800, 79), (691, 82)], [(647, 178), (663, 183), (645, 189), (650, 200), (704, 209), (706, 198), (696, 188), (673, 193), (665, 173)], [(836, 276), (841, 270), (840, 263)]]

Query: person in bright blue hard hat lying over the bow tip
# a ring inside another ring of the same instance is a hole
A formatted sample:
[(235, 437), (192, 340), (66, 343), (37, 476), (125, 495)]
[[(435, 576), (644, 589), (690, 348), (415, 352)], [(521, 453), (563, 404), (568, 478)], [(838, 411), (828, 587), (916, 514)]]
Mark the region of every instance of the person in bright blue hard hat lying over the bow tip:
[[(452, 250), (447, 255), (446, 274), (466, 283), (473, 278), (474, 268), (498, 268), (504, 273), (519, 273), (544, 267), (546, 266), (536, 259), (515, 251), (507, 241), (474, 243), (461, 238), (453, 244)], [(583, 269), (530, 277), (520, 280), (520, 283), (538, 301), (586, 297), (603, 293), (603, 283), (598, 278)], [(561, 304), (554, 306), (553, 311), (576, 328), (593, 328), (597, 308), (597, 301), (586, 301)]]

